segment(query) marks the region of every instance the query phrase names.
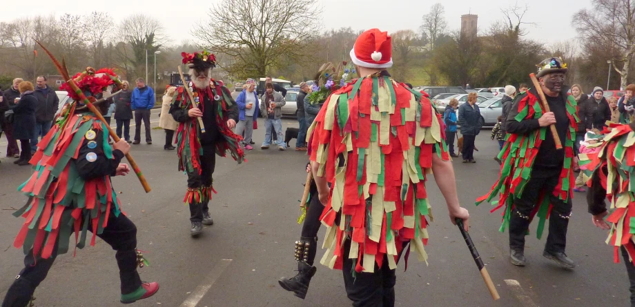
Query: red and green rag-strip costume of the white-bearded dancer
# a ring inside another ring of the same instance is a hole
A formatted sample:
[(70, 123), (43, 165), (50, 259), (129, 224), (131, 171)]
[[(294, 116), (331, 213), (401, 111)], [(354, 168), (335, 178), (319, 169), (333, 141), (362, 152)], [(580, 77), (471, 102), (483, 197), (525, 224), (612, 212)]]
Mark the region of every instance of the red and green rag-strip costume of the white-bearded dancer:
[[(192, 90), (195, 99), (199, 99), (202, 112), (205, 112), (204, 99), (206, 97), (216, 102), (217, 110), (215, 110), (215, 114), (217, 118), (215, 121), (205, 123), (206, 125), (217, 125), (218, 131), (222, 134), (224, 139), (224, 141), (215, 142), (216, 154), (225, 157), (226, 152), (229, 152), (231, 157), (241, 164), (242, 161), (245, 161), (244, 151), (240, 147), (242, 137), (235, 134), (224, 124), (230, 118), (227, 114), (228, 108), (235, 103), (231, 98), (231, 93), (221, 82), (214, 80), (212, 80), (212, 82), (214, 84), (213, 88), (195, 88), (191, 82), (188, 86), (190, 86), (190, 90)], [(182, 110), (190, 110), (196, 107), (194, 101), (191, 101), (183, 87), (178, 88), (173, 100), (175, 101), (173, 103), (173, 109), (180, 108)], [(206, 133), (211, 133), (211, 127), (206, 127), (206, 129)], [(176, 136), (179, 170), (184, 172), (197, 172), (199, 175), (202, 173), (200, 156), (203, 154), (203, 148), (201, 146), (200, 135), (201, 127), (199, 127), (197, 121), (188, 120), (179, 123)], [(212, 192), (216, 193), (212, 186), (188, 188), (183, 201), (185, 203), (208, 201), (212, 198)]]

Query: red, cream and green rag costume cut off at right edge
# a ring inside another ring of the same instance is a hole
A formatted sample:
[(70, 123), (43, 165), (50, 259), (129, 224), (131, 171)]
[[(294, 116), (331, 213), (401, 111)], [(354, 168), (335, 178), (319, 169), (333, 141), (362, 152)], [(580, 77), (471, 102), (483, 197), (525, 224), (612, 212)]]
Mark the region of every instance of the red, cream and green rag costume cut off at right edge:
[(595, 202), (589, 203), (589, 212), (604, 212), (604, 199), (611, 202), (612, 212), (606, 221), (612, 226), (606, 242), (613, 246), (617, 263), (620, 247), (627, 250), (629, 261), (635, 259), (635, 181), (631, 181), (635, 177), (635, 132), (629, 125), (611, 124), (611, 127), (600, 152), (580, 154), (580, 166), (586, 166), (585, 180), (593, 175), (592, 181), (587, 180), (591, 187), (589, 201)]

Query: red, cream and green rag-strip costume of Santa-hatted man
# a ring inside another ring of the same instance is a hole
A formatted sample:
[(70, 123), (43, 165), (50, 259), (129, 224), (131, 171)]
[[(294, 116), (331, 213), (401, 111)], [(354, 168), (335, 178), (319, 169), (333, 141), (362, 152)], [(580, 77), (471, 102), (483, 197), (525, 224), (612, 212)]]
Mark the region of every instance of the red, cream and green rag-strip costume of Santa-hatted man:
[[(443, 134), (430, 100), (385, 75), (358, 79), (326, 100), (309, 128), (311, 161), (332, 193), (322, 214), (322, 264), (342, 269), (349, 257), (358, 259), (357, 272), (373, 272), (389, 255), (393, 269), (404, 241), (427, 259), (425, 181), (432, 155), (449, 160)], [(342, 255), (347, 237), (351, 249)]]

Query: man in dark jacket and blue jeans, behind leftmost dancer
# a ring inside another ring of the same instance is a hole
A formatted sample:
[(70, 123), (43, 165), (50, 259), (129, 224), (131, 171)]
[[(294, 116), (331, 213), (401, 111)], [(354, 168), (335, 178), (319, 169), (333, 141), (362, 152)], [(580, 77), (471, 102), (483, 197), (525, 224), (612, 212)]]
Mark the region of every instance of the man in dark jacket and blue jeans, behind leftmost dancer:
[(57, 105), (59, 104), (59, 98), (57, 98), (55, 90), (46, 85), (46, 77), (39, 76), (36, 81), (37, 88), (33, 93), (37, 99), (35, 105), (35, 135), (31, 139), (31, 153), (35, 153), (35, 150), (37, 150), (39, 137), (45, 137), (48, 130), (50, 130), (53, 117), (55, 117), (55, 112), (57, 112)]

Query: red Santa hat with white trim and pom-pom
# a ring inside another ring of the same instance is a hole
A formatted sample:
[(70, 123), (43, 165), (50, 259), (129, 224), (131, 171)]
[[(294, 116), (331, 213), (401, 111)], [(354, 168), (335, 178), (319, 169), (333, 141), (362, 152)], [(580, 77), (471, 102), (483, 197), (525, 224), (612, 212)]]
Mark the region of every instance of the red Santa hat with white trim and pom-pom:
[(388, 32), (371, 29), (360, 34), (351, 49), (351, 60), (355, 65), (366, 68), (390, 68), (393, 46)]

